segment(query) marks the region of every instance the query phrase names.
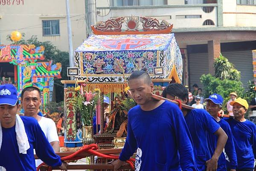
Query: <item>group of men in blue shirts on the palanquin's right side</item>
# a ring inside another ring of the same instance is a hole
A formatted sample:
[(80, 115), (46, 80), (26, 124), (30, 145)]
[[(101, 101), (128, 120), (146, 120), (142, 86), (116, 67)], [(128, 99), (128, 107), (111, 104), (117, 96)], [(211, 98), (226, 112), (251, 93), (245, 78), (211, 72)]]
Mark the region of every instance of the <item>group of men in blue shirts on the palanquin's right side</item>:
[[(234, 118), (221, 119), (219, 94), (204, 99), (206, 110), (180, 110), (169, 101), (146, 96), (154, 90), (147, 72), (134, 71), (128, 84), (138, 105), (128, 112), (128, 134), (119, 159), (113, 162), (114, 171), (136, 150), (136, 171), (256, 170), (256, 125), (244, 118), (249, 108), (246, 100), (230, 101)], [(199, 101), (198, 89), (191, 94)], [(183, 104), (190, 101), (182, 84), (169, 84), (162, 96)]]

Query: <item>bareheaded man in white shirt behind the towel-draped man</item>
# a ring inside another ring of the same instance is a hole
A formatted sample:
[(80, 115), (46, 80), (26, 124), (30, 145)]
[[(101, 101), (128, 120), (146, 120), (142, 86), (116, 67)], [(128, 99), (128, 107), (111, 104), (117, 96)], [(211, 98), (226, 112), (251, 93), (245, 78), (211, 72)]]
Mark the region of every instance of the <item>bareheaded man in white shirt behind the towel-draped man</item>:
[[(37, 87), (26, 87), (21, 92), (21, 105), (24, 109), (25, 116), (31, 116), (37, 119), (38, 124), (43, 130), (49, 143), (52, 145), (54, 152), (60, 152), (60, 144), (55, 123), (52, 119), (38, 115), (38, 109), (42, 104), (41, 92)], [(36, 160), (36, 167), (42, 163), (41, 160)]]

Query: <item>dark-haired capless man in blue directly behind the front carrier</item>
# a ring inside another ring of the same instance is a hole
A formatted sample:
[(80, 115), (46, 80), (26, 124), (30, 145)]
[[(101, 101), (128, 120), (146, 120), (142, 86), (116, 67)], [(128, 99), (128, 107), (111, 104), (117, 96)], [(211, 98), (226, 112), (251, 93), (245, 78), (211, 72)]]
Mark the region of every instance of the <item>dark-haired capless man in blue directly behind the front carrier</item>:
[[(183, 104), (186, 104), (189, 93), (182, 84), (172, 83), (163, 90), (162, 96), (171, 100), (179, 99)], [(197, 170), (216, 171), (218, 158), (227, 141), (227, 134), (206, 110), (186, 110), (184, 108), (181, 110), (192, 138)], [(207, 143), (207, 133), (218, 136), (217, 146), (212, 155)]]

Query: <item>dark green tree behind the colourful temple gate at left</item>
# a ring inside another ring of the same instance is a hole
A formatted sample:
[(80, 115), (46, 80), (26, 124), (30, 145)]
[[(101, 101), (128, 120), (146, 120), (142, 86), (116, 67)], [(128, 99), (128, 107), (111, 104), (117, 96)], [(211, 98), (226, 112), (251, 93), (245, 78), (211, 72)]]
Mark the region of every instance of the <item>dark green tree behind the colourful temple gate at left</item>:
[[(24, 36), (25, 34), (22, 34)], [(10, 35), (7, 35), (7, 40), (12, 41), (10, 39)], [(13, 43), (13, 42), (12, 42)], [(24, 40), (23, 38), (15, 44), (34, 44), (35, 46), (44, 46), (44, 56), (45, 61), (52, 60), (53, 64), (58, 62), (62, 65), (61, 70), (61, 79), (55, 79), (54, 87), (56, 92), (56, 102), (60, 102), (64, 100), (64, 88), (61, 80), (67, 80), (67, 70), (66, 68), (69, 67), (69, 53), (60, 51), (56, 46), (52, 44), (50, 41), (38, 41), (37, 36), (33, 35), (28, 40)]]

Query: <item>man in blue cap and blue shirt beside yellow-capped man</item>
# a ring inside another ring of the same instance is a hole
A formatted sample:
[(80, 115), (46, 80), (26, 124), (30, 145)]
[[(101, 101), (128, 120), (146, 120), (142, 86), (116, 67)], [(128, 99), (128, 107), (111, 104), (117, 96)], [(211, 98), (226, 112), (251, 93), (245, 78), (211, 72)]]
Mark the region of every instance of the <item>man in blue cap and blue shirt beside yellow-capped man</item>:
[[(233, 134), (231, 131), (231, 128), (229, 124), (224, 121), (224, 119), (221, 119), (218, 117), (218, 113), (221, 111), (223, 98), (219, 94), (212, 94), (209, 96), (209, 98), (204, 100), (206, 102), (206, 110), (210, 113), (214, 119), (218, 122), (218, 124), (221, 126), (221, 128), (225, 131), (227, 134), (227, 143), (225, 145), (225, 153), (228, 157), (228, 171), (236, 171), (237, 167), (237, 159), (236, 159), (236, 150), (233, 142)], [(214, 134), (207, 133), (208, 138), (208, 145), (211, 155), (213, 155), (215, 148), (217, 146), (217, 136)], [(221, 156), (218, 159), (218, 168), (217, 171), (227, 171), (226, 167), (226, 157), (224, 153), (221, 153)]]

